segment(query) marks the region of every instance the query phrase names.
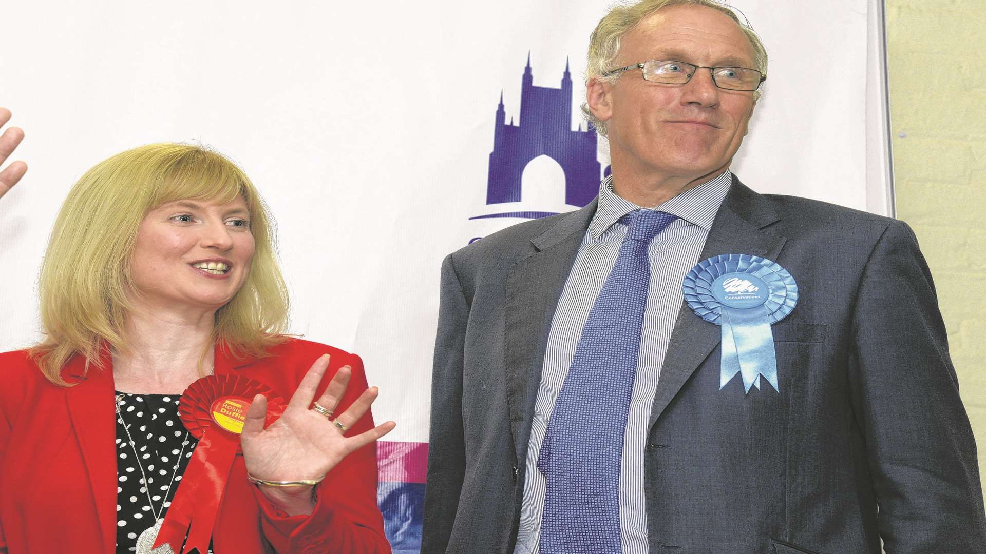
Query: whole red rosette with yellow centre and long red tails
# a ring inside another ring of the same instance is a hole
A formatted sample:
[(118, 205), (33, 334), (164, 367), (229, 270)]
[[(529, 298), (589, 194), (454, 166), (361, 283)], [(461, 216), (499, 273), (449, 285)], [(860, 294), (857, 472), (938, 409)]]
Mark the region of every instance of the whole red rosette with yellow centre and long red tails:
[(152, 550), (167, 543), (172, 552), (190, 552), (192, 548), (208, 552), (233, 460), (243, 453), (240, 434), (246, 410), (256, 394), (267, 397), (267, 427), (281, 416), (286, 405), (274, 389), (260, 381), (209, 376), (191, 383), (181, 394), (178, 416), (198, 439), (198, 445)]

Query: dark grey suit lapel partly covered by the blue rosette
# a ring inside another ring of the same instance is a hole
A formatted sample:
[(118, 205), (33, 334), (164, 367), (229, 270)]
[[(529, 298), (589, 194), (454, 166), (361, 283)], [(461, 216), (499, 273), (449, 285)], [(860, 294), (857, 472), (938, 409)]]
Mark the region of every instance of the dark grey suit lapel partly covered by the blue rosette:
[[(716, 214), (698, 259), (731, 253), (776, 259), (786, 239), (765, 228), (778, 219), (770, 202), (747, 188), (734, 175), (733, 185)], [(674, 395), (712, 353), (721, 338), (719, 325), (705, 321), (682, 303), (661, 368), (649, 427), (654, 426)]]

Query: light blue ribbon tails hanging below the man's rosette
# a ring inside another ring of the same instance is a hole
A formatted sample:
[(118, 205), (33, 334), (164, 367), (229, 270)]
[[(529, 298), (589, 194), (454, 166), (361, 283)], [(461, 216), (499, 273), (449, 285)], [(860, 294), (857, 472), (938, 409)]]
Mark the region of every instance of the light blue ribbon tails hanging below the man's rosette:
[[(777, 353), (774, 349), (774, 333), (770, 329), (770, 315), (762, 306), (739, 310), (723, 307), (723, 327), (727, 320), (739, 358), (743, 388), (759, 387), (759, 377), (780, 391), (777, 383)], [(726, 331), (723, 331), (725, 335)], [(725, 352), (725, 348), (724, 348)], [(725, 356), (724, 356), (725, 360)], [(723, 364), (725, 369), (725, 361)], [(735, 375), (735, 374), (734, 374)]]

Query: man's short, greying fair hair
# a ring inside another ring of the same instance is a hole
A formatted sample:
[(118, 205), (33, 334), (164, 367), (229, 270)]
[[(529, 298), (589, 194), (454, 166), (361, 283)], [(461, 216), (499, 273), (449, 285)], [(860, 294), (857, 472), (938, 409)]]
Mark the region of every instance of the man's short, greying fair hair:
[[(616, 5), (599, 20), (599, 25), (593, 31), (593, 35), (589, 37), (589, 65), (586, 69), (586, 84), (589, 84), (594, 79), (608, 83), (619, 79), (622, 73), (608, 76), (605, 74), (620, 65), (626, 65), (617, 61), (619, 59), (620, 40), (623, 36), (658, 10), (669, 6), (682, 5), (712, 8), (726, 14), (731, 20), (735, 21), (740, 26), (743, 35), (749, 40), (750, 45), (753, 46), (753, 53), (756, 57), (755, 69), (763, 75), (767, 74), (767, 50), (764, 48), (760, 36), (747, 25), (740, 22), (740, 18), (730, 6), (716, 0), (641, 0), (633, 4)], [(753, 102), (759, 99), (760, 92), (754, 92)], [(582, 104), (582, 114), (587, 121), (596, 127), (599, 135), (606, 136), (605, 121), (600, 121), (593, 115), (588, 103)]]

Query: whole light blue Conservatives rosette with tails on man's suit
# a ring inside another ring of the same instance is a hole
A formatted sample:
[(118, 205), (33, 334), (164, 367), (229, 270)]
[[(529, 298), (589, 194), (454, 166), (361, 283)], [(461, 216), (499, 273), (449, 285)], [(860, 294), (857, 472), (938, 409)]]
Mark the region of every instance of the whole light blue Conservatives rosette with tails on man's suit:
[(743, 389), (762, 377), (780, 391), (770, 325), (798, 304), (794, 277), (777, 262), (750, 254), (722, 254), (700, 261), (684, 278), (684, 300), (697, 315), (722, 327), (719, 389), (737, 374)]

